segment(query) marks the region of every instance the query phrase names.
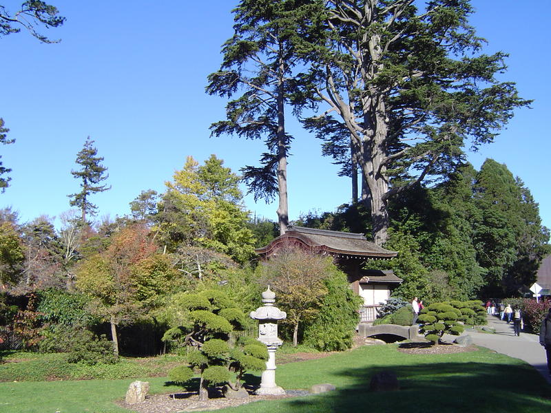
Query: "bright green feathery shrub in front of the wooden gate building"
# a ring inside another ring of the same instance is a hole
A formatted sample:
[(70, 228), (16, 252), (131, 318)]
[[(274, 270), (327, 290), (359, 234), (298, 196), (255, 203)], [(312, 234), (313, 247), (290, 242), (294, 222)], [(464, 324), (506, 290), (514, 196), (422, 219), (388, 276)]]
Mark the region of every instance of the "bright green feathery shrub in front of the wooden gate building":
[(324, 279), (327, 294), (320, 313), (304, 330), (306, 346), (320, 351), (342, 351), (352, 347), (355, 328), (360, 321), (357, 309), (362, 297), (349, 287), (344, 273), (334, 268)]

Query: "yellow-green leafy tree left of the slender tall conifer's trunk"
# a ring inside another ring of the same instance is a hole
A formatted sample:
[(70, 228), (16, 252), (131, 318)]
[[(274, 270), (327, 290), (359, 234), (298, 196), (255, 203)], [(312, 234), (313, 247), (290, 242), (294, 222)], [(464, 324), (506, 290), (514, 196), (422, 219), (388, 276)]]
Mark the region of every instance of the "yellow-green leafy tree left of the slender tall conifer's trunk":
[(252, 257), (254, 239), (247, 228), (249, 213), (242, 205), (239, 178), (223, 164), (212, 155), (200, 166), (189, 156), (167, 182), (154, 231), (170, 252), (180, 245), (201, 246), (236, 262)]

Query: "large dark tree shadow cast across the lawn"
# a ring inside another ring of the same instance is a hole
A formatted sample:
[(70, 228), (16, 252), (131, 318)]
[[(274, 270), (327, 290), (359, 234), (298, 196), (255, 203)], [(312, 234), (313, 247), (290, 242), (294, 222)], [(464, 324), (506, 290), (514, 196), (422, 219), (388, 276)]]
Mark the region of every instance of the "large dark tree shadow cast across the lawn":
[[(373, 374), (391, 370), (400, 390), (372, 392)], [(296, 412), (549, 412), (550, 386), (526, 365), (433, 363), (421, 366), (355, 368), (337, 372), (353, 383), (320, 396), (280, 401)]]

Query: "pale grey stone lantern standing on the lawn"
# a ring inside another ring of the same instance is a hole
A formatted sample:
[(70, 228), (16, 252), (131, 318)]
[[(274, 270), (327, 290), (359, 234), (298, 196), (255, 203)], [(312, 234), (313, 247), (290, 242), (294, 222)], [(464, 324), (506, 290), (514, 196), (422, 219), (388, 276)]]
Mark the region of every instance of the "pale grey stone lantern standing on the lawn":
[(262, 372), (260, 388), (256, 394), (285, 394), (285, 390), (275, 384), (275, 350), (283, 344), (278, 338), (278, 320), (287, 318), (287, 313), (275, 307), (275, 293), (268, 289), (262, 293), (264, 306), (256, 311), (251, 311), (251, 318), (260, 321), (258, 324), (258, 341), (264, 343), (268, 348), (268, 361), (266, 370)]

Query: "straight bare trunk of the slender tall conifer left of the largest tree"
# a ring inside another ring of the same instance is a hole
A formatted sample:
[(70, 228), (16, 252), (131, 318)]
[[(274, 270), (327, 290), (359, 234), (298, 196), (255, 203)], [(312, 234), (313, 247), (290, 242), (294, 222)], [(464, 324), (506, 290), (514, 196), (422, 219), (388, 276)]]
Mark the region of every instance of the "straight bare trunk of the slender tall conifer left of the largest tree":
[[(280, 50), (282, 47), (280, 46)], [(280, 235), (287, 231), (289, 225), (289, 205), (287, 204), (287, 142), (285, 138), (285, 112), (284, 99), (285, 91), (283, 85), (283, 76), (285, 74), (284, 60), (280, 54), (280, 68), (278, 80), (278, 223), (280, 226)]]

